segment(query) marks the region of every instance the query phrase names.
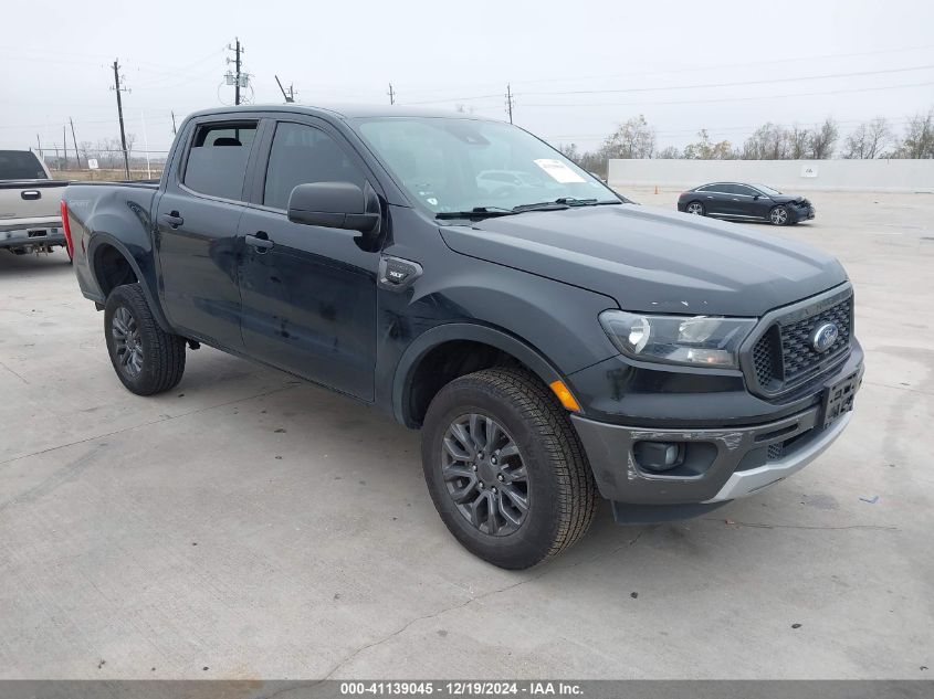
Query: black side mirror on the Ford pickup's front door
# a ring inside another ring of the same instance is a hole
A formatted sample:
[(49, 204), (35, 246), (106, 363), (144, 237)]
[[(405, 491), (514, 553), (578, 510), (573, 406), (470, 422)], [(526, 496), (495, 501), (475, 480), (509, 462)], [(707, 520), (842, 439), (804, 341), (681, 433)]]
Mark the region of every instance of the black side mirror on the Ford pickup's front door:
[(364, 190), (353, 182), (298, 184), (288, 197), (288, 220), (364, 234), (379, 226), (379, 213), (367, 211)]

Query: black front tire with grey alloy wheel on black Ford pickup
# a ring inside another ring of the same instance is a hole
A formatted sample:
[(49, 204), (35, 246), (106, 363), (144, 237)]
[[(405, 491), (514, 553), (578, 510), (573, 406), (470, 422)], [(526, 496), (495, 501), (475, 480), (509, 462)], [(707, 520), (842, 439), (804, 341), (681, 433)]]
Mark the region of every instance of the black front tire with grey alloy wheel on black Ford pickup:
[[(497, 428), (493, 453), (482, 453)], [(479, 437), (475, 448), (458, 434)], [(594, 520), (597, 489), (577, 433), (548, 389), (526, 371), (484, 369), (442, 388), (428, 407), (421, 453), (428, 490), (448, 529), (500, 568), (521, 570), (557, 555)], [(523, 495), (524, 512), (517, 506)]]

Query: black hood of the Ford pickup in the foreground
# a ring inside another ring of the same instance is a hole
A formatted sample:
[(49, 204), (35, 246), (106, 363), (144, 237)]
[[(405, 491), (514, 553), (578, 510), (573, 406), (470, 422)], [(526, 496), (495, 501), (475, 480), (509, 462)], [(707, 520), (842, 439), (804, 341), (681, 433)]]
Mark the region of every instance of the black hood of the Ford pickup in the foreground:
[(451, 250), (612, 297), (625, 310), (762, 316), (847, 280), (837, 260), (733, 223), (633, 204), (444, 226)]

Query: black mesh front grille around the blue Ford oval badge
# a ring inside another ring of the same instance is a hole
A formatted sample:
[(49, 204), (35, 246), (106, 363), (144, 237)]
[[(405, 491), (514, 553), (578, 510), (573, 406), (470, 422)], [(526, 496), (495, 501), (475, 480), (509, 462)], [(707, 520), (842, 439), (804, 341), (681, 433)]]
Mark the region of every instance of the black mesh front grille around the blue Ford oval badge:
[[(759, 392), (774, 395), (812, 379), (842, 359), (850, 349), (853, 297), (801, 317), (800, 313), (779, 316), (752, 349), (751, 369)], [(811, 346), (816, 328), (826, 322), (837, 326), (837, 340), (818, 352)]]

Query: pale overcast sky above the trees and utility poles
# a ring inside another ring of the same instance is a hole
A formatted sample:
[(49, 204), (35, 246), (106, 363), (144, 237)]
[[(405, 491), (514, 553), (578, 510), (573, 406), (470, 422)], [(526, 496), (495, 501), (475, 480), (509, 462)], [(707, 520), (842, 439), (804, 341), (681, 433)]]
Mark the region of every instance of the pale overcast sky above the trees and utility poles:
[(36, 134), (61, 146), (70, 116), (78, 141), (117, 136), (118, 57), (127, 130), (141, 147), (145, 119), (165, 150), (170, 110), (233, 102), (234, 36), (256, 103), (282, 102), (277, 74), (308, 104), (388, 103), (391, 82), (399, 104), (506, 118), (511, 83), (517, 124), (584, 148), (640, 113), (661, 148), (700, 128), (738, 144), (768, 120), (828, 115), (843, 133), (877, 115), (901, 130), (934, 106), (928, 0), (32, 0), (2, 17), (0, 148)]

